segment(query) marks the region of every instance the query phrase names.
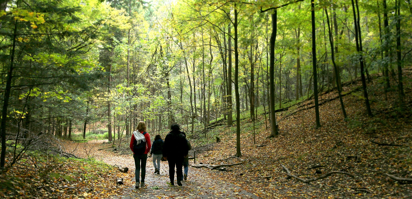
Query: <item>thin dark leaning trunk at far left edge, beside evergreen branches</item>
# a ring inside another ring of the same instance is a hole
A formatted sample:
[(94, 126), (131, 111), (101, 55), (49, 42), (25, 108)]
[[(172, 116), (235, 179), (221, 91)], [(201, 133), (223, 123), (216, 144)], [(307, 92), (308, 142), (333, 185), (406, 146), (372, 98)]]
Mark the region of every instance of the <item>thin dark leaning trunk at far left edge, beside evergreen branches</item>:
[[(4, 9), (7, 5), (7, 1), (0, 2), (0, 5), (4, 5)], [(3, 7), (1, 7), (3, 9)], [(3, 108), (2, 108), (2, 120), (1, 120), (1, 157), (0, 157), (0, 168), (4, 168), (6, 160), (6, 119), (7, 119), (7, 108), (9, 107), (10, 91), (12, 90), (12, 77), (14, 69), (14, 52), (16, 48), (16, 34), (17, 32), (17, 21), (14, 21), (14, 34), (13, 34), (13, 45), (10, 49), (10, 68), (7, 74), (6, 88), (4, 92)]]

